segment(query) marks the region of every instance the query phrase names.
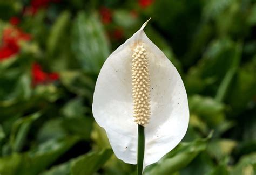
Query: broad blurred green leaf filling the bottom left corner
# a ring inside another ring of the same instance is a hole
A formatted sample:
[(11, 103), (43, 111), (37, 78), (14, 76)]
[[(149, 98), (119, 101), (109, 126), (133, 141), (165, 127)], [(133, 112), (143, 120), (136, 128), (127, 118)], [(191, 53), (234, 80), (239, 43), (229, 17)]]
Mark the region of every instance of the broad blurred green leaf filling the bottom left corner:
[(26, 153), (14, 153), (0, 158), (1, 174), (38, 174), (51, 165), (59, 156), (78, 141), (77, 137), (51, 140)]

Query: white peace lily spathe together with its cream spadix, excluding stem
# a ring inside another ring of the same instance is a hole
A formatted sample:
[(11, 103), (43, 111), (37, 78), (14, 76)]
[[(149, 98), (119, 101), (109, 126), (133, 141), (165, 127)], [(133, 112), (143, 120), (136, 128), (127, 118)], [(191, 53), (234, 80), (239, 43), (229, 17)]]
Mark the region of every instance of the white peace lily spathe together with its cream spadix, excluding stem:
[(96, 122), (125, 163), (137, 164), (138, 124), (145, 127), (144, 167), (181, 141), (189, 120), (183, 81), (147, 38), (146, 23), (106, 59), (92, 104)]

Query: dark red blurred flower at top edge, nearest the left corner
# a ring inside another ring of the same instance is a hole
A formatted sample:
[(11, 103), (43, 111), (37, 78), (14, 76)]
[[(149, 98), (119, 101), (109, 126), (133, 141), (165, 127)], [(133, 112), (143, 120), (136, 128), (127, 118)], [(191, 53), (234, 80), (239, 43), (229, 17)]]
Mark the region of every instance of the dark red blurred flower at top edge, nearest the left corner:
[(51, 2), (59, 3), (60, 0), (32, 0), (30, 6), (24, 8), (23, 13), (26, 15), (35, 15), (38, 9), (47, 8)]

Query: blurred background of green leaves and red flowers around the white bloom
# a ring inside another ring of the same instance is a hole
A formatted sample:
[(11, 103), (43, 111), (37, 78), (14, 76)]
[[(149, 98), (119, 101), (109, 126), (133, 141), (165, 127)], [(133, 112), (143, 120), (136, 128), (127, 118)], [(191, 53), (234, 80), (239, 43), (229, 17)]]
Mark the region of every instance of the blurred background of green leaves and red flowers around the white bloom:
[(91, 106), (103, 62), (150, 17), (190, 125), (145, 174), (256, 173), (256, 1), (0, 0), (1, 175), (135, 174)]

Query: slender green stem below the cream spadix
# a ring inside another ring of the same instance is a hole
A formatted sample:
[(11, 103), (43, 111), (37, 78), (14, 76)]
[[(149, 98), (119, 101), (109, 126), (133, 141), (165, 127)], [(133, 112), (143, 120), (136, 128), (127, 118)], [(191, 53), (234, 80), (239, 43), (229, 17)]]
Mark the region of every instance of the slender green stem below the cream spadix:
[(138, 155), (137, 155), (137, 174), (138, 175), (142, 175), (144, 150), (145, 150), (144, 127), (138, 124)]

